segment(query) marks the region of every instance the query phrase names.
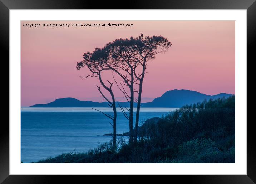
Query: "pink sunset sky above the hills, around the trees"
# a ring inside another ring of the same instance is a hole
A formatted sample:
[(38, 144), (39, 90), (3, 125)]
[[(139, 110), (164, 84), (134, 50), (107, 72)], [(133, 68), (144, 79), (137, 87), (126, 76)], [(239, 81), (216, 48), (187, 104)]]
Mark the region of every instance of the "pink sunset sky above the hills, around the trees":
[[(122, 23), (133, 27), (72, 27), (72, 23)], [(25, 24), (40, 23), (39, 27)], [(43, 27), (66, 23), (69, 27)], [(162, 35), (172, 46), (147, 65), (142, 101), (173, 89), (235, 93), (235, 21), (21, 21), (21, 106), (57, 98), (105, 101), (97, 78), (76, 70), (84, 52), (117, 38)], [(115, 89), (118, 101), (122, 92)], [(106, 93), (107, 94), (107, 93)]]

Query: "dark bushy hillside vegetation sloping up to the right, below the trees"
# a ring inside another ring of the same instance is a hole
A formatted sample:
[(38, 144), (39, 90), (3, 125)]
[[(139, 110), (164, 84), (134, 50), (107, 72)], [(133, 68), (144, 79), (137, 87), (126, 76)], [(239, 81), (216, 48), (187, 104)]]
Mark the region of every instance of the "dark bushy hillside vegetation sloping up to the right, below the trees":
[(235, 163), (235, 96), (183, 106), (142, 126), (138, 142), (122, 137), (86, 153), (32, 163)]

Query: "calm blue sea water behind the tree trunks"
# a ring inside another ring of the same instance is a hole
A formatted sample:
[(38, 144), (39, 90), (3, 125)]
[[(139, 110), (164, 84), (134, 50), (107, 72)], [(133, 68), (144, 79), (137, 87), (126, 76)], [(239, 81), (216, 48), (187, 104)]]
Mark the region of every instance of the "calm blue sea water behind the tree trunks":
[[(96, 108), (113, 114), (111, 108)], [(161, 117), (177, 108), (141, 108), (139, 122)], [(136, 111), (136, 109), (134, 109)], [(135, 113), (134, 113), (135, 116)], [(135, 117), (134, 117), (135, 119)], [(21, 108), (21, 161), (35, 162), (71, 152), (85, 152), (110, 140), (112, 120), (92, 108)], [(117, 133), (129, 130), (128, 120), (117, 112)]]

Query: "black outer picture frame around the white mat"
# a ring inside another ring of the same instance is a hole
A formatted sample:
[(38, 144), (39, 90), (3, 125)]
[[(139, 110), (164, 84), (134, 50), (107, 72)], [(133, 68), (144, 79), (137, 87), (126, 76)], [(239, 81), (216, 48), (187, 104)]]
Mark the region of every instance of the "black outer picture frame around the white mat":
[[(247, 10), (247, 68), (248, 63), (253, 63), (256, 58), (255, 45), (256, 45), (256, 1), (255, 0), (139, 0), (139, 1), (125, 1), (123, 5), (120, 5), (120, 1), (88, 1), (88, 0), (0, 0), (0, 45), (2, 51), (2, 83), (6, 82), (5, 87), (2, 86), (4, 95), (9, 94), (9, 80), (7, 81), (7, 75), (3, 71), (6, 71), (6, 67), (9, 68), (9, 10), (10, 9), (246, 9)], [(4, 56), (4, 57), (3, 57)], [(8, 65), (3, 67), (3, 64)], [(251, 64), (250, 64), (251, 65)], [(9, 68), (10, 69), (10, 68)], [(9, 70), (8, 70), (9, 71)], [(247, 72), (248, 76), (248, 72)], [(247, 77), (248, 81), (251, 78)], [(253, 78), (253, 77), (252, 77)], [(248, 82), (247, 82), (248, 83)], [(8, 86), (8, 88), (6, 87)], [(7, 90), (8, 89), (8, 90)], [(3, 92), (2, 91), (2, 92)], [(249, 88), (247, 84), (247, 98), (251, 97), (248, 93)], [(7, 98), (4, 97), (7, 101)], [(247, 117), (248, 112), (253, 108), (248, 108), (248, 104), (252, 103), (247, 101)], [(7, 104), (7, 102), (5, 103)], [(9, 108), (3, 106), (5, 111), (9, 111)], [(8, 101), (9, 107), (9, 101)], [(1, 109), (1, 111), (4, 109)], [(7, 112), (5, 113), (5, 116)], [(9, 113), (8, 113), (9, 114)], [(8, 116), (9, 119), (9, 116)], [(248, 119), (248, 118), (247, 118)], [(210, 176), (168, 176), (167, 181), (174, 182), (178, 180), (179, 183), (256, 183), (256, 144), (255, 133), (253, 129), (254, 121), (247, 120), (247, 175), (210, 175)], [(1, 121), (1, 134), (0, 134), (0, 182), (3, 183), (55, 183), (54, 180), (58, 180), (58, 183), (78, 183), (77, 179), (89, 181), (95, 180), (91, 176), (14, 176), (9, 175), (9, 123), (8, 120)], [(84, 177), (87, 177), (84, 180)], [(112, 182), (110, 176), (101, 177), (102, 182)], [(124, 176), (121, 179), (116, 179), (122, 183), (132, 183), (136, 178), (135, 176)], [(170, 177), (170, 178), (169, 178)], [(157, 178), (155, 178), (158, 180)], [(144, 177), (143, 182), (152, 182), (152, 177)], [(162, 180), (163, 181), (163, 180)], [(159, 182), (159, 180), (158, 180)]]

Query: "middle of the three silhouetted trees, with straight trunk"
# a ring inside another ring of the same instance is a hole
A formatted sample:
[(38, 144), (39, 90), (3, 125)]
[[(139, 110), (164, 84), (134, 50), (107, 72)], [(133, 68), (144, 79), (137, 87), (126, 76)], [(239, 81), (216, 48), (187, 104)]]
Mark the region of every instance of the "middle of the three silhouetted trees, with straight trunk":
[[(137, 79), (134, 77), (134, 69), (136, 68), (136, 58), (138, 54), (138, 45), (142, 44), (137, 38), (134, 39), (116, 39), (113, 42), (109, 42), (105, 45), (104, 50), (109, 52), (110, 63), (108, 67), (117, 73), (122, 81), (118, 84), (115, 80), (117, 87), (123, 92), (124, 98), (129, 102), (129, 115), (127, 115), (123, 109), (124, 116), (129, 120), (129, 143), (134, 140), (133, 133), (133, 109), (134, 109), (134, 84)], [(113, 76), (114, 77), (114, 76)], [(128, 87), (129, 92), (125, 89)]]

